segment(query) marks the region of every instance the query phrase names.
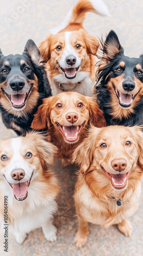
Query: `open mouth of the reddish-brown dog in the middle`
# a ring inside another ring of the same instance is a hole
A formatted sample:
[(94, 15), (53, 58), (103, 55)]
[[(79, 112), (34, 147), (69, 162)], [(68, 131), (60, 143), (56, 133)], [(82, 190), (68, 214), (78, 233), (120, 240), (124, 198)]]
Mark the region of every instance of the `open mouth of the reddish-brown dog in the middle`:
[(77, 142), (79, 139), (79, 135), (83, 129), (83, 126), (85, 122), (81, 125), (71, 125), (71, 126), (63, 126), (60, 125), (59, 123), (56, 123), (58, 126), (59, 131), (61, 134), (64, 136), (64, 139), (67, 142)]

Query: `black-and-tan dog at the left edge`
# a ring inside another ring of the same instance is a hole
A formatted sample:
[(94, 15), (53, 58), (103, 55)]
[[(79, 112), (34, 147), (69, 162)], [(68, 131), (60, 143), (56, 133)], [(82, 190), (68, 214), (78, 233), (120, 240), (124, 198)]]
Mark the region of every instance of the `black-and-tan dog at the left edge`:
[(40, 51), (29, 39), (20, 54), (4, 56), (0, 50), (0, 109), (3, 122), (17, 135), (30, 130), (33, 115), (44, 97), (51, 95)]

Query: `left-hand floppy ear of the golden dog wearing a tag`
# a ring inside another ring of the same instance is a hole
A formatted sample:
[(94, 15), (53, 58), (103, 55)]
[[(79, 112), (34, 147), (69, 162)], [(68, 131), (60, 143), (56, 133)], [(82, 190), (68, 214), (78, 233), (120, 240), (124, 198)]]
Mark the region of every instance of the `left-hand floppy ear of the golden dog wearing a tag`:
[(94, 141), (96, 133), (99, 133), (99, 128), (92, 126), (88, 131), (87, 137), (73, 153), (72, 163), (75, 162), (79, 164), (81, 174), (86, 174), (90, 172), (90, 167), (94, 157)]

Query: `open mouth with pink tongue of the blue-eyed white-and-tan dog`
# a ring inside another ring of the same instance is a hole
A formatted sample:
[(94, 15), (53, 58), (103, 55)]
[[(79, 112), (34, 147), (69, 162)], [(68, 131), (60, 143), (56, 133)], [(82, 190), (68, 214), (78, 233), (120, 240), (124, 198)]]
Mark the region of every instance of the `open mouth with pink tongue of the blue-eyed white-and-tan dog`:
[[(33, 175), (33, 173), (32, 173)], [(23, 201), (28, 196), (28, 187), (30, 185), (30, 181), (32, 178), (32, 175), (30, 179), (27, 182), (18, 182), (18, 183), (9, 183), (9, 185), (12, 187), (13, 194), (16, 200)]]

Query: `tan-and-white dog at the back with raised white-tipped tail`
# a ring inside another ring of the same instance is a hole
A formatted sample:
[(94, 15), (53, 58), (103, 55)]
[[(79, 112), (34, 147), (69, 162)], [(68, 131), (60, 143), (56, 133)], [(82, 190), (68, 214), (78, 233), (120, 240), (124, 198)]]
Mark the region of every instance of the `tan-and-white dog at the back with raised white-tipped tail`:
[[(95, 85), (95, 57), (99, 40), (82, 27), (86, 12), (109, 15), (106, 5), (98, 0), (79, 0), (67, 16), (67, 22), (43, 40), (39, 49), (52, 95), (76, 91), (91, 96)], [(57, 33), (58, 32), (58, 33)]]

